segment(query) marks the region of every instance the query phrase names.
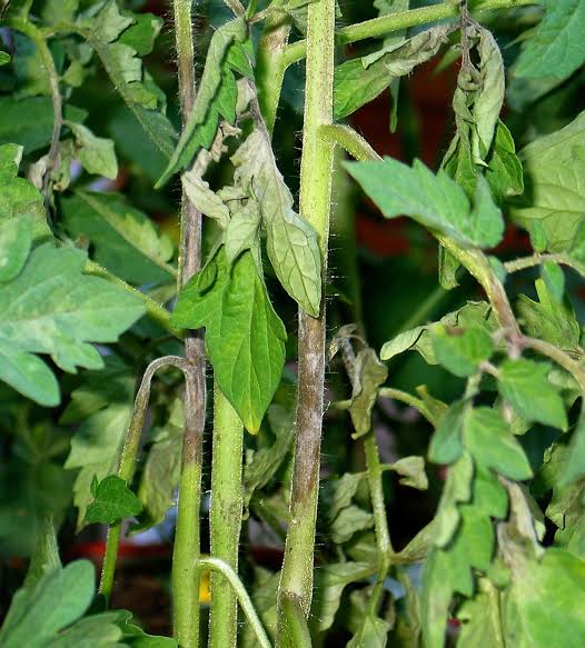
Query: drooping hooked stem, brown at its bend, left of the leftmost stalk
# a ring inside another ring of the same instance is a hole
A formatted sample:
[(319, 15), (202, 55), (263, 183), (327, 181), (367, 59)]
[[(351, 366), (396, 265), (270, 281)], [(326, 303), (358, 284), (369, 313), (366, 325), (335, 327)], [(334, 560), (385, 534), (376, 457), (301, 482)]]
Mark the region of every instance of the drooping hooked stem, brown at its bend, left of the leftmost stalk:
[[(138, 449), (140, 447), (140, 439), (145, 427), (146, 413), (148, 410), (148, 402), (150, 400), (150, 386), (152, 377), (162, 367), (176, 367), (180, 369), (185, 379), (191, 370), (189, 363), (184, 358), (178, 356), (165, 356), (150, 362), (147, 367), (140, 388), (136, 395), (132, 418), (128, 426), (126, 439), (123, 443), (122, 453), (120, 456), (120, 463), (118, 466), (118, 477), (123, 479), (127, 483), (132, 481), (138, 458)], [(108, 537), (106, 539), (106, 552), (103, 556), (103, 565), (101, 567), (101, 577), (99, 585), (99, 592), (108, 602), (113, 587), (113, 577), (116, 574), (116, 561), (118, 558), (118, 547), (120, 545), (121, 521), (111, 525), (108, 529)]]

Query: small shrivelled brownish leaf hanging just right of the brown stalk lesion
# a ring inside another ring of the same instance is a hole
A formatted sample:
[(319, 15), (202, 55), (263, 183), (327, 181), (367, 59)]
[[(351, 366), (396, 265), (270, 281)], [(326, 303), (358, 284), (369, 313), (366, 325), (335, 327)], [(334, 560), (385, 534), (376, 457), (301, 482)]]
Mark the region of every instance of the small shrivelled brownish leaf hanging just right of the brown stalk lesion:
[(374, 349), (361, 349), (354, 366), (354, 388), (349, 413), (356, 429), (351, 435), (358, 439), (371, 428), (371, 409), (378, 398), (378, 389), (388, 376), (388, 369), (378, 360)]

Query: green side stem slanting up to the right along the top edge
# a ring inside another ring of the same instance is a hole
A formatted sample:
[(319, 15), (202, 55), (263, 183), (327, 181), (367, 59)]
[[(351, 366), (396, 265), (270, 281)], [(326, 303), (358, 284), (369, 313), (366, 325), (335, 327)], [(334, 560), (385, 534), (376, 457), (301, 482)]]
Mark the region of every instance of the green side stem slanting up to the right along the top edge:
[[(537, 4), (536, 0), (486, 0), (482, 4), (482, 11), (493, 9), (510, 9), (514, 7), (524, 7), (526, 4)], [(400, 11), (398, 13), (389, 13), (357, 24), (349, 24), (339, 29), (336, 33), (336, 42), (339, 44), (348, 44), (366, 40), (368, 38), (381, 38), (391, 33), (393, 31), (401, 31), (410, 27), (420, 27), (429, 22), (437, 22), (448, 18), (456, 18), (459, 16), (459, 3), (447, 1), (440, 4), (432, 4), (430, 7), (420, 7), (419, 9), (410, 9), (408, 11)], [(307, 54), (307, 41), (299, 40), (290, 46), (285, 51), (282, 64), (285, 68), (300, 61)]]

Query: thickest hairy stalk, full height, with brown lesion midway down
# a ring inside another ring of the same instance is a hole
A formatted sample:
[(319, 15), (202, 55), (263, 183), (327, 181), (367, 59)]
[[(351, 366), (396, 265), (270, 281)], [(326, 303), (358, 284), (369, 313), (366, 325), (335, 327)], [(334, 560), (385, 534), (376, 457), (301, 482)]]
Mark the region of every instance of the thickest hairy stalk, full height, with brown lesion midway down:
[[(335, 0), (308, 7), (307, 81), (300, 167), (300, 213), (319, 237), (324, 276), (327, 269), (333, 146), (319, 136), (333, 121)], [(299, 311), (298, 409), (295, 468), (285, 559), (278, 590), (280, 646), (294, 646), (282, 610), (284, 598), (296, 599), (308, 617), (313, 599), (315, 525), (319, 494), (323, 390), (325, 381), (325, 300), (313, 318)]]

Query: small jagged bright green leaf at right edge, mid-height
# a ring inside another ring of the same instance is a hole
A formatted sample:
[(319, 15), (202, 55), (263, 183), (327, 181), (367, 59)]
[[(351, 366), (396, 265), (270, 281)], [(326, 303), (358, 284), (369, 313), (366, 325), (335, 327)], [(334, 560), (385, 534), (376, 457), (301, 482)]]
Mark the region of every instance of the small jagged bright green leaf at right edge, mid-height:
[(525, 295), (518, 297), (517, 310), (523, 330), (533, 338), (555, 345), (573, 357), (579, 357), (583, 353), (579, 345), (581, 327), (573, 307), (568, 300), (559, 303), (554, 299), (542, 279), (537, 279), (535, 286), (538, 301), (533, 301)]

